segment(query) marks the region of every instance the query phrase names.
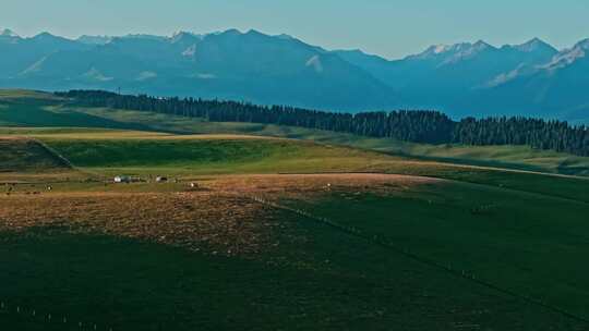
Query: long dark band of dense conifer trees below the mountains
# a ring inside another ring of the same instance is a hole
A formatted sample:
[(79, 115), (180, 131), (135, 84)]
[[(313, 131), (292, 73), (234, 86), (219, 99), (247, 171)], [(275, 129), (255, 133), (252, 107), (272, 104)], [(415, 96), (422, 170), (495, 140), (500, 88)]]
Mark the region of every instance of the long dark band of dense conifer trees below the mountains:
[(455, 122), (437, 111), (325, 112), (287, 106), (195, 98), (157, 98), (118, 95), (101, 90), (57, 93), (88, 107), (153, 111), (212, 122), (248, 122), (328, 130), (404, 142), (466, 145), (528, 145), (589, 156), (589, 132), (561, 121), (529, 118), (467, 118)]

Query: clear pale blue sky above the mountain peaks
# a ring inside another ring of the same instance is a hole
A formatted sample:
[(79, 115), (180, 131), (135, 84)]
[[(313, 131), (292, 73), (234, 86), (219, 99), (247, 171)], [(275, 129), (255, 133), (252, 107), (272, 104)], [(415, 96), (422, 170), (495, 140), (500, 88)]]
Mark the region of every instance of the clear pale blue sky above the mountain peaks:
[(433, 44), (589, 37), (589, 0), (1, 0), (0, 27), (77, 37), (231, 27), (399, 58)]

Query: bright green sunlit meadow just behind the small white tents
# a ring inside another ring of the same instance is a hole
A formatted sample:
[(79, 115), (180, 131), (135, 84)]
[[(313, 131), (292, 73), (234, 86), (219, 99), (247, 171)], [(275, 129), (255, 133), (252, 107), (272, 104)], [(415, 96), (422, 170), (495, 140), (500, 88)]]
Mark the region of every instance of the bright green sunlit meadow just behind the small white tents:
[(34, 137), (75, 167), (107, 175), (349, 171), (397, 159), (347, 147), (240, 135), (93, 132)]

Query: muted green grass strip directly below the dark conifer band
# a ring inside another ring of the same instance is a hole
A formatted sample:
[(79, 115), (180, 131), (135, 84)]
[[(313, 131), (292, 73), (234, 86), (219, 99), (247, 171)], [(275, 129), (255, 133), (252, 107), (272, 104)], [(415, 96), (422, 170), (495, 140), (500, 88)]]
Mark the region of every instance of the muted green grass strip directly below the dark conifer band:
[(361, 137), (345, 133), (334, 133), (301, 127), (253, 123), (207, 122), (201, 119), (185, 119), (182, 117), (164, 115), (142, 111), (96, 108), (79, 108), (76, 111), (81, 111), (93, 117), (120, 121), (121, 123), (141, 123), (142, 125), (151, 127), (151, 130), (168, 130), (177, 133), (225, 133), (284, 137), (291, 139), (313, 140), (328, 145), (340, 145), (368, 150), (376, 150), (431, 161), (540, 171), (548, 173), (575, 175), (589, 174), (589, 158), (550, 150), (536, 150), (527, 146), (413, 144), (388, 138)]

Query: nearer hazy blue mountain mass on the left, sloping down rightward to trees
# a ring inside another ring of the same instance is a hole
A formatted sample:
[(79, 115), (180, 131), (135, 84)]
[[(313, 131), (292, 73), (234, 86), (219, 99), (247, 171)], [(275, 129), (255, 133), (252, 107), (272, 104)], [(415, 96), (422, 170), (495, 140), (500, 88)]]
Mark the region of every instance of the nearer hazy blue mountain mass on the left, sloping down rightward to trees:
[(0, 50), (9, 58), (0, 69), (4, 86), (121, 87), (339, 110), (400, 105), (388, 86), (337, 54), (255, 30), (76, 41), (39, 35), (0, 40)]

